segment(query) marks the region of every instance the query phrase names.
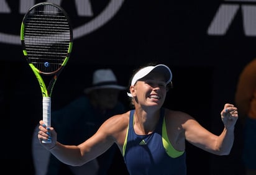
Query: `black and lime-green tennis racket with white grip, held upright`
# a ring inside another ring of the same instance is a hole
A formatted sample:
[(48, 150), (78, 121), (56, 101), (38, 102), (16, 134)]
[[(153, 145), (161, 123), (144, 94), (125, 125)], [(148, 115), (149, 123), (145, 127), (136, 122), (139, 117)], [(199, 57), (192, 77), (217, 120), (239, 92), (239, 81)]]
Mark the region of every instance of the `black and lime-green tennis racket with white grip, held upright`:
[[(43, 122), (50, 127), (53, 86), (69, 60), (73, 46), (68, 15), (56, 4), (35, 4), (22, 20), (21, 44), (42, 91)], [(43, 140), (43, 143), (50, 141)]]

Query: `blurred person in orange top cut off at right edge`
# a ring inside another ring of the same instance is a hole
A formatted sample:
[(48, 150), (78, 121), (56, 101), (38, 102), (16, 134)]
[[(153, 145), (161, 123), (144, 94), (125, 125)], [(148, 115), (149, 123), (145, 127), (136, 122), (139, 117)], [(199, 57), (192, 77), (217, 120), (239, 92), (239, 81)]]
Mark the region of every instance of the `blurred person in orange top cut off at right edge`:
[(244, 128), (242, 161), (247, 175), (256, 174), (256, 58), (239, 75), (235, 103)]

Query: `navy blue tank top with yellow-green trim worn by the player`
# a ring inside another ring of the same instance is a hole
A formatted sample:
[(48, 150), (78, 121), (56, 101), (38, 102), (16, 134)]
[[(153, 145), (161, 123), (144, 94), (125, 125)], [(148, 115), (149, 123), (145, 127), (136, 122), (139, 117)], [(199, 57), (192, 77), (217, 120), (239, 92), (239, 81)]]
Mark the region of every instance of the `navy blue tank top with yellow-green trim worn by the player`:
[[(163, 146), (163, 120), (164, 109), (161, 109), (155, 131), (149, 135), (137, 135), (133, 127), (134, 110), (130, 111), (129, 128), (124, 144), (124, 161), (130, 175), (186, 174), (186, 152), (173, 158)], [(170, 141), (168, 143), (170, 144)]]

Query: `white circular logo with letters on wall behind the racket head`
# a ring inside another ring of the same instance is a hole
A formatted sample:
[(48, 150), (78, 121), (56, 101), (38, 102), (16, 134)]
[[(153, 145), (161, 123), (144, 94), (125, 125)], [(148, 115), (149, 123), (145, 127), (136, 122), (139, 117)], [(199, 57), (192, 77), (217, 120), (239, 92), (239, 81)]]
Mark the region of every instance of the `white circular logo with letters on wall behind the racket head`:
[[(53, 2), (55, 4), (61, 4), (62, 0), (52, 0), (47, 2)], [(112, 17), (115, 16), (116, 12), (121, 8), (124, 0), (111, 0), (107, 4), (107, 6), (103, 9), (98, 16), (94, 16), (93, 8), (91, 7), (91, 2), (89, 0), (75, 0), (76, 12), (80, 17), (93, 17), (93, 20), (90, 20), (86, 24), (80, 25), (73, 29), (73, 37), (74, 39), (83, 37), (99, 27), (106, 24)], [(34, 6), (34, 0), (20, 0), (19, 3), (19, 12), (21, 14), (25, 14), (27, 9)], [(11, 9), (8, 6), (5, 0), (0, 0), (0, 14), (11, 14)], [(11, 34), (4, 34), (0, 32), (0, 42), (3, 43), (11, 43), (20, 45), (21, 38), (20, 35), (11, 35)]]

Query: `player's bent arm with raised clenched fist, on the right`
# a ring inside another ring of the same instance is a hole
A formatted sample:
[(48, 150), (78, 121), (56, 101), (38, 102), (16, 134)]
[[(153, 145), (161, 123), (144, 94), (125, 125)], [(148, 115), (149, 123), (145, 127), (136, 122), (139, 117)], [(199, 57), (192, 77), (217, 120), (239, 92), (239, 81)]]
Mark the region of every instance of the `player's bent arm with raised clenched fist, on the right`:
[(237, 108), (232, 104), (225, 104), (221, 111), (221, 119), (224, 129), (219, 136), (206, 130), (194, 119), (186, 121), (184, 123), (186, 140), (209, 153), (229, 155), (234, 143), (234, 127), (238, 119)]

